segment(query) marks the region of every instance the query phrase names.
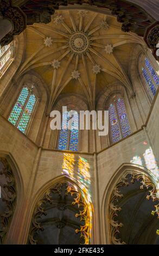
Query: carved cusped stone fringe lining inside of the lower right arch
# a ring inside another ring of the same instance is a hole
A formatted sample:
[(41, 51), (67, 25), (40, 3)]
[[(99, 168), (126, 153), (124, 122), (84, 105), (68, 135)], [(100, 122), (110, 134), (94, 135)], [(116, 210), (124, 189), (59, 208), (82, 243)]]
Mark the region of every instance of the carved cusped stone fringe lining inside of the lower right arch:
[[(119, 192), (119, 187), (123, 186), (129, 186), (128, 179), (126, 176), (130, 174), (131, 175), (131, 182), (134, 183), (135, 180), (141, 182), (141, 190), (146, 187), (149, 191), (149, 195), (147, 196), (147, 199), (149, 200), (150, 198), (155, 201), (158, 200), (156, 197), (156, 187), (152, 183), (152, 181), (148, 178), (147, 175), (144, 173), (138, 172), (138, 171), (131, 171), (129, 170), (126, 172), (122, 178), (119, 180), (118, 184), (115, 186), (113, 189), (113, 192), (111, 194), (110, 198), (110, 203), (109, 203), (109, 220), (110, 220), (110, 235), (111, 235), (111, 243), (115, 245), (123, 245), (125, 244), (124, 241), (121, 241), (120, 239), (117, 239), (117, 235), (120, 233), (120, 228), (123, 226), (123, 223), (118, 223), (117, 221), (117, 216), (118, 216), (118, 211), (121, 211), (122, 208), (119, 208), (117, 205), (117, 202), (120, 198), (123, 197), (123, 195)], [(157, 215), (159, 217), (159, 204), (155, 205), (156, 210), (152, 211), (152, 215)]]

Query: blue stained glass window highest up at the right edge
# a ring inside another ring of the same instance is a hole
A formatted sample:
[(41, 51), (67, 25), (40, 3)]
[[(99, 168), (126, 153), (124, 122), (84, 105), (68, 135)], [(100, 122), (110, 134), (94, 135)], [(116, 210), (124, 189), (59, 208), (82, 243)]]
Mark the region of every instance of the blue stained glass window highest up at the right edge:
[(155, 96), (157, 87), (159, 85), (159, 76), (157, 75), (147, 57), (144, 60), (142, 74), (145, 82), (147, 83), (148, 90), (153, 96)]

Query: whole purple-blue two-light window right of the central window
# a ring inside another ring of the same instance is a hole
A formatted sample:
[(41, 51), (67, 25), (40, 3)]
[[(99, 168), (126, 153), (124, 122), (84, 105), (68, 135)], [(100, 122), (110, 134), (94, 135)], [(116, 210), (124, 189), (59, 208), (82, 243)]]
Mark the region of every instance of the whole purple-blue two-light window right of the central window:
[(113, 143), (131, 134), (125, 103), (122, 97), (117, 97), (109, 105), (109, 119)]

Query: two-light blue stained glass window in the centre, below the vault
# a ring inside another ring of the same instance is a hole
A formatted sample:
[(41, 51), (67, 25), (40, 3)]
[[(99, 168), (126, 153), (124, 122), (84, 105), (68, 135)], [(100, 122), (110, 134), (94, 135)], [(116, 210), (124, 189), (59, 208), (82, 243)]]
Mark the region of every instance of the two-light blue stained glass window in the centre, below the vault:
[(70, 117), (68, 112), (62, 114), (62, 125), (59, 136), (58, 149), (78, 151), (79, 141), (79, 127), (78, 127), (78, 114), (74, 115), (74, 122), (71, 129), (68, 129), (68, 121)]

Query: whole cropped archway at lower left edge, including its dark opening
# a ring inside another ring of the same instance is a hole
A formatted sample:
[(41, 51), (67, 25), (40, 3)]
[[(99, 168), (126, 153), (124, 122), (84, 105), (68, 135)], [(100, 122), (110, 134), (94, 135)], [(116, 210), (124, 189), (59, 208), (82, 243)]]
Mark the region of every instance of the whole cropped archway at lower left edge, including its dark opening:
[(0, 152), (0, 186), (0, 244), (12, 243), (24, 191), (20, 170), (14, 158), (4, 152)]

